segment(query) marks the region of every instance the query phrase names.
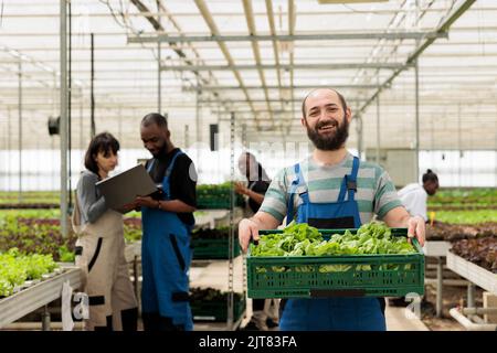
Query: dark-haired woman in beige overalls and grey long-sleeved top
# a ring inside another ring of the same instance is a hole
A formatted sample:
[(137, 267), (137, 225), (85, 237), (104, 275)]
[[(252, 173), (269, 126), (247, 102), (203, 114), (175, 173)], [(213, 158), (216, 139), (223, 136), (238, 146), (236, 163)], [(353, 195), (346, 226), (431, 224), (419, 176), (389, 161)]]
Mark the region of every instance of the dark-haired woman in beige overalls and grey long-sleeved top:
[(124, 254), (123, 214), (109, 210), (95, 186), (116, 168), (118, 150), (119, 142), (110, 133), (95, 136), (76, 188), (72, 224), (78, 236), (75, 263), (83, 272), (82, 289), (89, 297), (86, 330), (137, 330), (138, 304)]

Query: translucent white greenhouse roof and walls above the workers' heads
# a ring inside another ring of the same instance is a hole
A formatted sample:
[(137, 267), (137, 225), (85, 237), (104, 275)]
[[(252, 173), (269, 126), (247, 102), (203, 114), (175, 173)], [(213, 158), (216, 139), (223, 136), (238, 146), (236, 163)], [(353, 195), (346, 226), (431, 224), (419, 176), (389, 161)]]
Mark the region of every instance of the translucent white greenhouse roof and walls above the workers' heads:
[[(321, 2), (71, 1), (73, 146), (89, 136), (93, 33), (96, 128), (125, 148), (159, 110), (159, 76), (180, 146), (228, 129), (231, 111), (248, 141), (304, 141), (303, 97), (336, 87), (362, 148), (413, 148), (416, 62), (420, 149), (497, 148), (497, 1)], [(59, 1), (1, 2), (0, 149), (17, 148), (19, 119), (23, 148), (59, 146), (46, 122), (60, 114), (60, 41)]]

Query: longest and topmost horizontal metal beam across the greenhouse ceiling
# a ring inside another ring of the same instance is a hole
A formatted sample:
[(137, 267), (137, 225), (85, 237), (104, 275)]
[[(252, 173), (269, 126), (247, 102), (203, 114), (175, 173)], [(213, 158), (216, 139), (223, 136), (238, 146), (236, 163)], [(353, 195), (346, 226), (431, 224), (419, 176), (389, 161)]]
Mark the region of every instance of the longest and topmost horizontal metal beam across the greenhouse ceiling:
[[(295, 15), (294, 15), (295, 18)], [(295, 21), (295, 20), (294, 20)], [(423, 40), (448, 38), (444, 32), (379, 32), (329, 34), (251, 34), (251, 35), (128, 35), (128, 43), (192, 43), (192, 42), (295, 42), (295, 41), (350, 41), (350, 40)]]

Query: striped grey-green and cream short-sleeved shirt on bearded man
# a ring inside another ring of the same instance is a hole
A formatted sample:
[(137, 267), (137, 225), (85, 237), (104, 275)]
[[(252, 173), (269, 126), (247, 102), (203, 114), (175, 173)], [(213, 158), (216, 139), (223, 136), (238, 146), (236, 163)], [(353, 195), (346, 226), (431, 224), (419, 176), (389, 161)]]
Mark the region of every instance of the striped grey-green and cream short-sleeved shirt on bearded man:
[[(305, 190), (308, 191), (309, 201), (313, 203), (337, 202), (343, 176), (352, 172), (352, 162), (353, 156), (350, 152), (335, 165), (320, 165), (314, 161), (313, 156), (302, 161), (305, 185), (296, 189), (295, 212), (303, 202), (298, 193)], [(281, 170), (271, 182), (260, 211), (283, 222), (287, 212), (289, 185), (295, 179), (294, 165)], [(347, 199), (348, 194), (345, 200)], [(355, 200), (362, 224), (370, 222), (374, 214), (382, 220), (390, 210), (402, 206), (390, 175), (380, 165), (364, 161), (359, 163)]]

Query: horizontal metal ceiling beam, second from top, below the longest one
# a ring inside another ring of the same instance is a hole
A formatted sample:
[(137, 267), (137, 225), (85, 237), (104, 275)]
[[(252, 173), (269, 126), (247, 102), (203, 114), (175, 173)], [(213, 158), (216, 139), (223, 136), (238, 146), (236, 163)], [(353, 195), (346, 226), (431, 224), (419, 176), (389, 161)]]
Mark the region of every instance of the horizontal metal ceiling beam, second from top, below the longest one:
[[(221, 43), (220, 43), (221, 44)], [(231, 56), (230, 56), (231, 57)], [(384, 68), (384, 69), (404, 69), (412, 66), (412, 63), (336, 63), (336, 64), (287, 64), (279, 65), (281, 68), (292, 69), (356, 69), (356, 68)], [(234, 65), (233, 60), (229, 65), (176, 65), (160, 67), (162, 71), (226, 71), (232, 69), (240, 76), (240, 69), (273, 69), (276, 68), (274, 64), (264, 65)], [(241, 77), (240, 77), (241, 81)], [(240, 83), (243, 86), (243, 83)]]

